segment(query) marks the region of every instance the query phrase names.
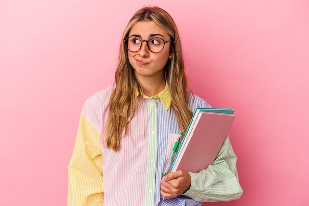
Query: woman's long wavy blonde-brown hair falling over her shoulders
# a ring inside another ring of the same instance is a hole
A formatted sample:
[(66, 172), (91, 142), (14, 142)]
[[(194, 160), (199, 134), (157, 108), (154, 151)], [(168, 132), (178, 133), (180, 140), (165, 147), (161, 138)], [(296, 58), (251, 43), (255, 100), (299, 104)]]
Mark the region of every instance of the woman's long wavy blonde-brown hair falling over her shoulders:
[[(170, 88), (171, 109), (175, 112), (180, 130), (186, 131), (193, 112), (188, 108), (187, 78), (184, 72), (182, 47), (176, 24), (165, 10), (156, 6), (144, 7), (132, 16), (122, 39), (128, 37), (131, 28), (138, 21), (153, 21), (174, 40), (174, 43), (170, 44), (173, 57), (167, 61), (164, 73)], [(140, 96), (136, 97), (136, 91), (143, 91), (134, 75), (134, 69), (129, 63), (128, 50), (124, 42), (120, 45), (118, 58), (114, 90), (110, 97), (109, 113), (103, 128), (106, 133), (106, 147), (115, 151), (120, 149), (121, 138), (128, 134), (131, 119), (138, 107)]]

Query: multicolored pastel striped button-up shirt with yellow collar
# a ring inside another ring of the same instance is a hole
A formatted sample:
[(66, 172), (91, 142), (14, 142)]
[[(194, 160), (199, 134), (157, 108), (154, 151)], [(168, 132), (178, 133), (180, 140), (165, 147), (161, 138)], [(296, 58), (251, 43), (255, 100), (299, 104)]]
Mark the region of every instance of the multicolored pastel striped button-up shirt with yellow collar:
[[(188, 198), (163, 200), (160, 180), (180, 132), (169, 88), (142, 98), (117, 152), (102, 143), (112, 90), (97, 92), (84, 104), (69, 164), (68, 206), (200, 206), (241, 196), (236, 156), (227, 137), (213, 165), (189, 172), (191, 186), (183, 194)], [(189, 108), (196, 107), (210, 106), (190, 93)]]

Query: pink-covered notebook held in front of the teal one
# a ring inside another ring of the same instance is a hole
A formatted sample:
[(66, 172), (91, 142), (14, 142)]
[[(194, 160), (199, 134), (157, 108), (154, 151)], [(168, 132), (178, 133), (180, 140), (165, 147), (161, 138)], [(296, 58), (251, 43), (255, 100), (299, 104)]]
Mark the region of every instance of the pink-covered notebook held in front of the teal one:
[(233, 114), (195, 111), (170, 172), (200, 172), (212, 165), (228, 135)]

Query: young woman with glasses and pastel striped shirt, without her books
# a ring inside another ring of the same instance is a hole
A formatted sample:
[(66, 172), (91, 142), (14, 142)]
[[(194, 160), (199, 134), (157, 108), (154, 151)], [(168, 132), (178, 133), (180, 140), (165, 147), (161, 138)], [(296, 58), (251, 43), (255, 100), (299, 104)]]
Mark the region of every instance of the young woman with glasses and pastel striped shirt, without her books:
[(229, 137), (207, 169), (162, 178), (196, 107), (210, 106), (187, 91), (175, 22), (161, 8), (140, 9), (124, 31), (115, 84), (84, 104), (69, 165), (68, 206), (196, 206), (239, 198)]

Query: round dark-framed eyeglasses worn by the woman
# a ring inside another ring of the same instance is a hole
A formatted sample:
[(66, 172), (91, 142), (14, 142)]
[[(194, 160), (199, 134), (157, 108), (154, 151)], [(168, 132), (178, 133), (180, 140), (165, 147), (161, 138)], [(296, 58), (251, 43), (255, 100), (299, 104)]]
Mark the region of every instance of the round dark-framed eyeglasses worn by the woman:
[(148, 40), (141, 40), (135, 36), (130, 36), (123, 39), (126, 48), (130, 52), (137, 52), (142, 47), (143, 41), (146, 41), (148, 49), (153, 53), (159, 53), (163, 50), (164, 45), (168, 42), (173, 42), (174, 40), (165, 41), (160, 37), (150, 38)]

